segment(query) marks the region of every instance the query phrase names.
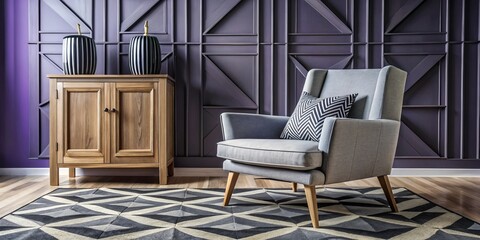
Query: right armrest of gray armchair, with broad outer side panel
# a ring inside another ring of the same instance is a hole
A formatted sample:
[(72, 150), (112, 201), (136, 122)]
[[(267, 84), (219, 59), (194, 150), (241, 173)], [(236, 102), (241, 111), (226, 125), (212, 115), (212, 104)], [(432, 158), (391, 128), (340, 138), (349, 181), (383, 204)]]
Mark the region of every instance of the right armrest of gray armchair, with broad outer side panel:
[(325, 184), (390, 174), (400, 122), (327, 118), (318, 149)]

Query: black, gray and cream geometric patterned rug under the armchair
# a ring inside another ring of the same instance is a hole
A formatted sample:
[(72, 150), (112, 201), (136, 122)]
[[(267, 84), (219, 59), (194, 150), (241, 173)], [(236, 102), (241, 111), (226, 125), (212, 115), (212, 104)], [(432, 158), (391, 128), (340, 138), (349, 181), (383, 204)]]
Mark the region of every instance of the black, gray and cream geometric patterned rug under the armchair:
[(414, 193), (317, 189), (320, 228), (304, 192), (59, 188), (0, 219), (0, 239), (480, 239), (480, 225)]

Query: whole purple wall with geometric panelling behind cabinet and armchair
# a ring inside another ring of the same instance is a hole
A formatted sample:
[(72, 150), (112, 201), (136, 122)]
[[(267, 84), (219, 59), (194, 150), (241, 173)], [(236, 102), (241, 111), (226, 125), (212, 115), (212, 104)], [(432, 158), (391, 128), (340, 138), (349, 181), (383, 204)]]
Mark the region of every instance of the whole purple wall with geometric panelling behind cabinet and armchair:
[[(309, 69), (392, 64), (409, 72), (395, 166), (480, 168), (477, 0), (5, 4), (9, 61), (0, 85), (5, 95), (0, 111), (7, 116), (0, 121), (7, 133), (1, 167), (47, 166), (45, 75), (61, 72), (62, 37), (81, 22), (97, 43), (97, 73), (128, 73), (128, 41), (148, 19), (162, 43), (162, 71), (177, 81), (179, 167), (221, 166), (214, 156), (222, 112), (290, 114)], [(6, 151), (12, 148), (16, 151)]]

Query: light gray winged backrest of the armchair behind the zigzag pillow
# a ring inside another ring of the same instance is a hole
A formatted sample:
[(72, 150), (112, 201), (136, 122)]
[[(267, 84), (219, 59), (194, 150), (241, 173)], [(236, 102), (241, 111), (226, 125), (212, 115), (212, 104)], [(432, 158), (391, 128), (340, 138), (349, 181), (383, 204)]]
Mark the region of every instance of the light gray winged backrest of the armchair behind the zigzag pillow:
[(393, 66), (381, 69), (308, 72), (303, 91), (317, 97), (358, 93), (349, 118), (400, 121), (407, 73)]

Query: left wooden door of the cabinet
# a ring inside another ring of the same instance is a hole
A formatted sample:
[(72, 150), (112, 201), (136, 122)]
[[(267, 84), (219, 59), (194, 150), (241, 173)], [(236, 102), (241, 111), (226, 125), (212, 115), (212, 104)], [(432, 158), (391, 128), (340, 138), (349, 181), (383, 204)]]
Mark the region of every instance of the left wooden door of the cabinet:
[(63, 163), (105, 161), (103, 83), (59, 83), (58, 150)]

